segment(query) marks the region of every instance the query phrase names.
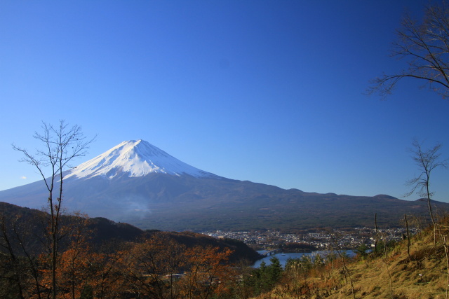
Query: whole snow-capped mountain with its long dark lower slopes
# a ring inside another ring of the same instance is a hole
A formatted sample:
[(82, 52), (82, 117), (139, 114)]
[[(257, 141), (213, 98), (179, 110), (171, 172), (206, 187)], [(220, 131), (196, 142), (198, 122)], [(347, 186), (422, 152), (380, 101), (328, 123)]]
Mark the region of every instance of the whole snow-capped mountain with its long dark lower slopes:
[[(42, 181), (0, 191), (0, 201), (22, 207), (43, 207), (47, 197)], [(403, 214), (428, 214), (421, 200), (305, 193), (227, 179), (143, 140), (124, 141), (66, 172), (63, 200), (68, 211), (177, 231), (373, 226), (375, 213), (379, 225), (397, 225)]]

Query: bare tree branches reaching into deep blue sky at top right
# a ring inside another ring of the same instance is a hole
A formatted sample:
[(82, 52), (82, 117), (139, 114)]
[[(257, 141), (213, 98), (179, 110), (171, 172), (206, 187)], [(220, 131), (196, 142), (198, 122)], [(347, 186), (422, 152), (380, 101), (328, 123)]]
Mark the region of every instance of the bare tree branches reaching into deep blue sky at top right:
[(428, 86), (443, 98), (449, 97), (449, 6), (428, 6), (424, 20), (417, 22), (406, 15), (402, 27), (397, 31), (398, 41), (394, 43), (391, 56), (406, 60), (408, 69), (400, 74), (375, 78), (368, 93), (382, 97), (391, 94), (402, 78), (420, 79), (422, 86)]

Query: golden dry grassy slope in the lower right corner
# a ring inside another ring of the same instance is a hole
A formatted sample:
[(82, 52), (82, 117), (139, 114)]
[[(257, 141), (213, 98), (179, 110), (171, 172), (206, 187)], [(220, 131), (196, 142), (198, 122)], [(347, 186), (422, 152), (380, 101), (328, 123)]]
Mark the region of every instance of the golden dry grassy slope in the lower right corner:
[[(387, 258), (382, 255), (347, 263), (355, 298), (446, 298), (448, 269), (443, 244), (434, 245), (431, 229), (410, 241), (410, 258), (405, 240), (389, 251)], [(286, 274), (271, 293), (258, 298), (354, 298), (341, 263), (334, 266), (334, 270), (327, 265), (300, 278), (301, 289), (296, 294), (293, 277)]]

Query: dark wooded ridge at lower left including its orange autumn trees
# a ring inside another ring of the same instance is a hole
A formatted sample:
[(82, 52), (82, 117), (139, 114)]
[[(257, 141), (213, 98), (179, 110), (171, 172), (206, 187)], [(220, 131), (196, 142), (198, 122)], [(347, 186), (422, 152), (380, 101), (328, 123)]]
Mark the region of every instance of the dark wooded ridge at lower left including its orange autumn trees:
[[(48, 298), (51, 216), (6, 203), (0, 216), (0, 298)], [(233, 239), (79, 215), (60, 220), (57, 298), (208, 298), (231, 290), (232, 263), (259, 257)]]

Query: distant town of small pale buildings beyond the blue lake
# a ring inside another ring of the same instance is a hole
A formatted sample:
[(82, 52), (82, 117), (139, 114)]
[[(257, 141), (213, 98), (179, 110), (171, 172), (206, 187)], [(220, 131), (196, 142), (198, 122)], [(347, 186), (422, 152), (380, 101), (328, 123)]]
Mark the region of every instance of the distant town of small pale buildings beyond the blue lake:
[[(409, 235), (415, 235), (420, 230), (409, 228)], [(375, 246), (376, 231), (373, 228), (351, 228), (345, 230), (309, 229), (297, 233), (280, 232), (279, 230), (254, 231), (224, 231), (202, 232), (216, 238), (239, 239), (253, 249), (282, 248), (288, 243), (300, 243), (313, 246), (316, 250), (329, 248), (356, 249), (361, 244)], [(377, 239), (398, 241), (407, 236), (406, 228), (387, 228), (377, 230)]]

